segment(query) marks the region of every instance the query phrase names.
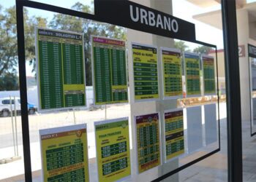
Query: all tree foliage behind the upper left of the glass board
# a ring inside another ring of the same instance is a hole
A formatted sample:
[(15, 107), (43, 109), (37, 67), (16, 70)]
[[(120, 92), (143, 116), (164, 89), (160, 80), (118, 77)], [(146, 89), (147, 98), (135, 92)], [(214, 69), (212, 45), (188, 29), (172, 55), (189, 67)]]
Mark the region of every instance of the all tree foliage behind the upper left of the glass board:
[[(92, 13), (91, 7), (76, 3), (72, 9)], [(16, 28), (15, 6), (2, 10), (0, 7), (0, 77), (6, 79), (7, 75), (18, 73), (18, 44)], [(34, 28), (53, 28), (64, 31), (75, 31), (83, 33), (85, 42), (85, 62), (86, 62), (86, 85), (92, 84), (91, 79), (91, 35), (106, 36), (110, 38), (126, 39), (124, 28), (107, 23), (98, 23), (92, 20), (85, 20), (79, 17), (56, 14), (50, 23), (42, 17), (29, 17), (29, 13), (24, 9), (24, 33), (26, 61), (33, 66), (36, 75), (36, 57), (34, 46)], [(9, 78), (9, 77), (8, 77)], [(17, 84), (18, 85), (18, 84)]]

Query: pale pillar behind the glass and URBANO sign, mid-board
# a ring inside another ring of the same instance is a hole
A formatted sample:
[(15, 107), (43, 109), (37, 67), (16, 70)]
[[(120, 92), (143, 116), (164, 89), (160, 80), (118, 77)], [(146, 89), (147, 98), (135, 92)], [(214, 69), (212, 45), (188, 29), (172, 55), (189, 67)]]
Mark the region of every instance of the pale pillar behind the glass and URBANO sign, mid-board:
[[(135, 1), (135, 0), (132, 0)], [(172, 15), (172, 0), (166, 0), (166, 1), (144, 1), (144, 0), (136, 0), (135, 1), (138, 4), (142, 4), (146, 7), (151, 7), (153, 9), (157, 9), (161, 12), (165, 12), (167, 14)], [(132, 77), (132, 51), (131, 51), (131, 42), (136, 42), (140, 44), (149, 44), (149, 45), (155, 45), (157, 47), (173, 47), (173, 39), (168, 39), (166, 37), (162, 36), (155, 36), (150, 33), (143, 33), (140, 31), (133, 31), (131, 29), (128, 29), (127, 31), (127, 44), (128, 44), (128, 68), (129, 68), (129, 98), (130, 98), (130, 107), (131, 107), (131, 122), (133, 131), (132, 133), (135, 133), (135, 120), (134, 116), (137, 115), (143, 115), (143, 114), (151, 114), (160, 112), (161, 116), (160, 119), (162, 119), (162, 113), (163, 110), (176, 108), (176, 100), (161, 100), (161, 101), (149, 101), (149, 102), (140, 102), (135, 103), (135, 93), (134, 93), (134, 79)], [(158, 52), (159, 54), (159, 52)], [(159, 71), (161, 69), (159, 68)], [(159, 76), (161, 74), (159, 73)], [(162, 83), (159, 84), (159, 91), (162, 90)], [(159, 95), (162, 95), (161, 92), (159, 92)], [(161, 120), (160, 120), (161, 121)], [(161, 138), (161, 136), (160, 136)], [(132, 141), (135, 141), (135, 136), (132, 135)], [(137, 163), (135, 162), (136, 155), (135, 154), (135, 143), (132, 142), (132, 173), (135, 174), (138, 171)], [(162, 156), (161, 156), (162, 157)], [(161, 175), (164, 175), (167, 172), (170, 172), (170, 170), (174, 170), (178, 168), (178, 159), (173, 160), (172, 162), (164, 164), (162, 161), (161, 167), (155, 167), (154, 170), (150, 170), (150, 173), (144, 172), (140, 175), (135, 175), (135, 178), (132, 178), (134, 181), (151, 181), (154, 178), (157, 178)], [(133, 175), (132, 174), (132, 175)], [(167, 178), (166, 181), (178, 181), (178, 174), (172, 175), (170, 178)]]

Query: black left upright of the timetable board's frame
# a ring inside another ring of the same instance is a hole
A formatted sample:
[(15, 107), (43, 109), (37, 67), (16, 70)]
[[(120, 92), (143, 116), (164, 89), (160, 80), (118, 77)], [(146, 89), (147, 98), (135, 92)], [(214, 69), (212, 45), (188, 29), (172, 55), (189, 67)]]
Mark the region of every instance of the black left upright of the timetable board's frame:
[(28, 116), (28, 95), (26, 92), (26, 58), (25, 58), (25, 38), (23, 22), (23, 1), (16, 0), (16, 21), (18, 38), (18, 66), (20, 82), (20, 106), (21, 106), (21, 127), (23, 141), (23, 157), (25, 181), (32, 181), (30, 140), (29, 140), (29, 116)]

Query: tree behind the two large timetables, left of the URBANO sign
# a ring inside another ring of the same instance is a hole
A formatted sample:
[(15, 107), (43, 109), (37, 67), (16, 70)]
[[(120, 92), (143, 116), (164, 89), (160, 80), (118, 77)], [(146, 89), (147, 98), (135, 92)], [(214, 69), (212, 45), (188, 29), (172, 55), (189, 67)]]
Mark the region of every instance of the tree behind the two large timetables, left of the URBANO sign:
[[(79, 12), (92, 13), (91, 7), (79, 2), (74, 4), (71, 9)], [(80, 17), (56, 14), (50, 21), (50, 28), (64, 31), (75, 31), (84, 35), (84, 52), (86, 62), (86, 85), (92, 85), (91, 78), (91, 36), (106, 36), (110, 38), (125, 39), (124, 28), (107, 23), (99, 23), (93, 20), (86, 20)]]

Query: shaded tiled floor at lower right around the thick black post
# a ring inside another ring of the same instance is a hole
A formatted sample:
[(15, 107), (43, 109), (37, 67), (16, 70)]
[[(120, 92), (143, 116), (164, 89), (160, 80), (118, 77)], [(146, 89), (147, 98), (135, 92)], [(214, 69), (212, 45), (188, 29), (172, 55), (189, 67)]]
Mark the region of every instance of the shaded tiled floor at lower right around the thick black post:
[[(242, 123), (243, 179), (256, 181), (256, 137), (250, 136), (250, 123)], [(221, 151), (179, 173), (179, 181), (227, 181), (227, 123), (221, 123)]]

